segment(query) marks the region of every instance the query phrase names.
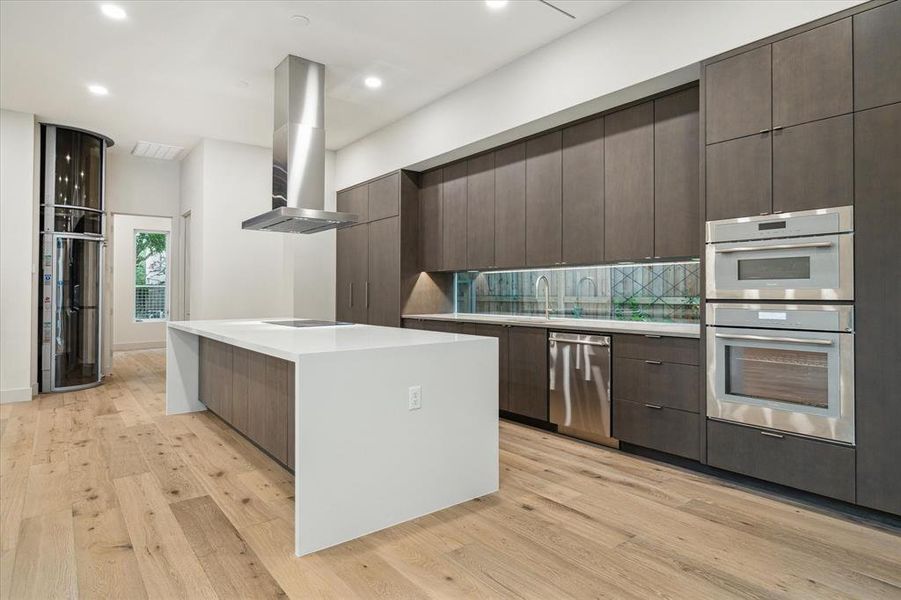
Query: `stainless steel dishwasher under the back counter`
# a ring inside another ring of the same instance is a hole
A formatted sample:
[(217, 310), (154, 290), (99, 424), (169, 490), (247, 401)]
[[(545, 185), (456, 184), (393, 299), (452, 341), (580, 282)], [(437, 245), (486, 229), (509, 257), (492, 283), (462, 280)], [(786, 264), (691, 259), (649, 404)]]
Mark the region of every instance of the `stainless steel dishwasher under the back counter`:
[(610, 337), (548, 335), (551, 423), (560, 433), (618, 446), (610, 437)]

